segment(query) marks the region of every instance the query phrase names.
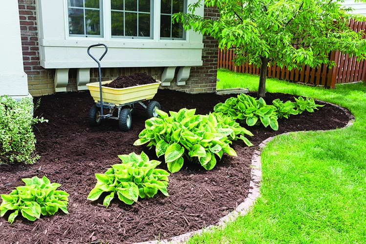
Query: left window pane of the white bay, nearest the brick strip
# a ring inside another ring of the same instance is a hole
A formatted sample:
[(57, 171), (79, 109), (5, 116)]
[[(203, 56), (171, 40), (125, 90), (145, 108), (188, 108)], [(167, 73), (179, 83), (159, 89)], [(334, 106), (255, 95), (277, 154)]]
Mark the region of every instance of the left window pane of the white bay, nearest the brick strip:
[(67, 0), (70, 36), (102, 36), (102, 0)]

